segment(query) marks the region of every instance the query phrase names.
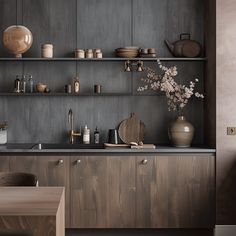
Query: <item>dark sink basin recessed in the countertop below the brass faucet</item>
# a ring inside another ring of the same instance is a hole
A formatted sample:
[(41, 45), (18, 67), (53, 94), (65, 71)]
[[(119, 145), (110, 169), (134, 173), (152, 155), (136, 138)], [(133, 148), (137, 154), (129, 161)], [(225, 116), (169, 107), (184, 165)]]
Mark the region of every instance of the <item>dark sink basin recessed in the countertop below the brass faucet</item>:
[(69, 144), (69, 143), (40, 143), (40, 144), (8, 144), (8, 149), (103, 149), (103, 144)]

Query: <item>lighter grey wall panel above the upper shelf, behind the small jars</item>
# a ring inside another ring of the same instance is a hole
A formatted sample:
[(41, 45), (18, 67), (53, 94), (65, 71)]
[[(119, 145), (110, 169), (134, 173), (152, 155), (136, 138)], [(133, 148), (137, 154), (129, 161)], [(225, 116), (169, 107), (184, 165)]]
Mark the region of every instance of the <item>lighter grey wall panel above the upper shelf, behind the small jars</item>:
[(131, 44), (131, 0), (77, 0), (77, 46), (101, 48), (106, 56)]

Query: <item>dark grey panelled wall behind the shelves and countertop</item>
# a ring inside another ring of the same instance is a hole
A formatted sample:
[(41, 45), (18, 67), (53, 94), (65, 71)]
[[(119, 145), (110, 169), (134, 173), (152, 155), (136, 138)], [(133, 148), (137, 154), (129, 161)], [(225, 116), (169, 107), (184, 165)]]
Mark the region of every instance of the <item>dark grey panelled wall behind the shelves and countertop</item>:
[[(0, 31), (16, 20), (34, 36), (25, 57), (39, 57), (43, 43), (54, 45), (55, 57), (71, 57), (76, 47), (101, 48), (104, 56), (112, 56), (114, 48), (127, 45), (155, 47), (159, 56), (169, 57), (164, 39), (174, 41), (180, 33), (191, 32), (204, 42), (203, 0), (1, 0)], [(11, 57), (2, 43), (0, 57)], [(178, 65), (180, 81), (198, 77), (203, 89), (204, 63), (171, 64)], [(22, 73), (54, 91), (78, 74), (83, 92), (98, 83), (104, 92), (136, 93), (141, 77), (123, 72), (122, 62), (0, 62), (0, 91), (11, 91), (16, 74)], [(9, 123), (9, 142), (67, 141), (67, 113), (72, 108), (76, 128), (97, 125), (103, 140), (109, 128), (136, 112), (147, 126), (146, 142), (167, 143), (168, 122), (175, 115), (167, 111), (163, 96), (0, 97), (0, 107), (0, 120)], [(203, 143), (203, 102), (192, 100), (185, 113), (196, 128), (194, 142)]]

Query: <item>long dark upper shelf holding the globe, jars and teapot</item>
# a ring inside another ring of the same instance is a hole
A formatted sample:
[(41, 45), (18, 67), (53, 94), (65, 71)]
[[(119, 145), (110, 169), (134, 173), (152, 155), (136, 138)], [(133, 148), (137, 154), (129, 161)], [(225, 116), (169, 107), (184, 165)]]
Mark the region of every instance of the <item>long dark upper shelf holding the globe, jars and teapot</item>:
[[(182, 57), (160, 57), (158, 58), (161, 61), (206, 61), (205, 57), (197, 57), (197, 58), (182, 58)], [(0, 61), (156, 61), (157, 58), (120, 58), (120, 57), (104, 57), (104, 58), (0, 58)]]

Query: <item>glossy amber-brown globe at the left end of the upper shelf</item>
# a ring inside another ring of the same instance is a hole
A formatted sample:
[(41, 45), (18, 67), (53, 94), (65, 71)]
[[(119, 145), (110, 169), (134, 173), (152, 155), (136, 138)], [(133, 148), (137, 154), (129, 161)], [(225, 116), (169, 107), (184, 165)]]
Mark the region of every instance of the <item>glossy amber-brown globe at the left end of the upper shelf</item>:
[(3, 45), (15, 57), (30, 49), (33, 43), (32, 33), (22, 25), (12, 25), (3, 32)]

